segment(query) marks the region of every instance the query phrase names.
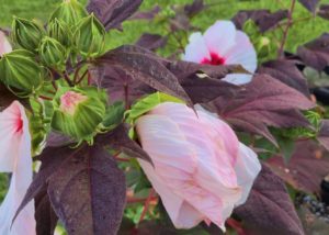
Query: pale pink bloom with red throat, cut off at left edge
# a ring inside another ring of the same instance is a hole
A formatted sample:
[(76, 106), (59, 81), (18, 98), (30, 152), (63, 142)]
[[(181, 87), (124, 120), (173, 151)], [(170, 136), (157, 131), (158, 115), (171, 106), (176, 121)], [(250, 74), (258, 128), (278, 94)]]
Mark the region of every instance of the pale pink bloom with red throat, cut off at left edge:
[(12, 224), (32, 182), (31, 136), (24, 108), (14, 101), (0, 112), (0, 172), (11, 172), (11, 182), (0, 205), (0, 234), (34, 235), (34, 203), (30, 202)]

